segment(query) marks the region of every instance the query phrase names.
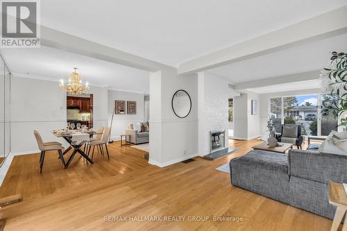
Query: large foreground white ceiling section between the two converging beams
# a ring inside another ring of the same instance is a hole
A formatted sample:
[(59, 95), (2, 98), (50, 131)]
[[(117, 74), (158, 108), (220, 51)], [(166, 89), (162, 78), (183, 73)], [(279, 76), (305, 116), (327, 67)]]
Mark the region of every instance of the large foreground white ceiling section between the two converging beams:
[(346, 0), (45, 0), (41, 22), (178, 67), (344, 5)]

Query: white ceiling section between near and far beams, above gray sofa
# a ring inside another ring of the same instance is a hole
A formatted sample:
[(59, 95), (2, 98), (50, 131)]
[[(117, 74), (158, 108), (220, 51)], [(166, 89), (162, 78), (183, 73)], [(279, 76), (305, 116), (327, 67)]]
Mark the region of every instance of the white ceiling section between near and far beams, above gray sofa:
[(228, 78), (230, 83), (242, 83), (315, 71), (328, 64), (331, 51), (347, 51), (347, 34), (235, 62), (209, 72)]

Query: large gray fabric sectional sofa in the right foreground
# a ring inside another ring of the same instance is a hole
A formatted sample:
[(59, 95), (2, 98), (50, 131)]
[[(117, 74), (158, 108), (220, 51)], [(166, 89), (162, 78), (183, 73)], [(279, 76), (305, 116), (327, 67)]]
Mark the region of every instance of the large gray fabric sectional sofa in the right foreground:
[(347, 183), (347, 155), (251, 151), (230, 160), (230, 178), (233, 186), (333, 219), (328, 180)]

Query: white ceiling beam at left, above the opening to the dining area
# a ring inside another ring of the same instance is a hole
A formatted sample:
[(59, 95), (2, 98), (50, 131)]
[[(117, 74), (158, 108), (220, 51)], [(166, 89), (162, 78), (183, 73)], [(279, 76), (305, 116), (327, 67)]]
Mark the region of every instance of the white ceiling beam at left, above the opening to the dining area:
[(85, 40), (81, 37), (69, 35), (61, 31), (56, 31), (46, 26), (41, 26), (41, 45), (54, 49), (60, 49), (78, 55), (85, 55), (107, 62), (114, 62), (119, 65), (134, 67), (144, 71), (159, 71), (161, 69), (176, 69), (160, 62), (155, 62), (146, 58), (132, 55), (124, 51), (113, 49), (96, 42)]

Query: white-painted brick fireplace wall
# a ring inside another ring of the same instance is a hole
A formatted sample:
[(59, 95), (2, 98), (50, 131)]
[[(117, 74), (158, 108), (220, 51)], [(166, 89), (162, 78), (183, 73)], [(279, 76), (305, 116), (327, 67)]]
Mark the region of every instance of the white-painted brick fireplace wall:
[(208, 72), (198, 73), (198, 153), (210, 153), (210, 131), (226, 130), (228, 144), (228, 80)]

